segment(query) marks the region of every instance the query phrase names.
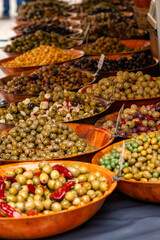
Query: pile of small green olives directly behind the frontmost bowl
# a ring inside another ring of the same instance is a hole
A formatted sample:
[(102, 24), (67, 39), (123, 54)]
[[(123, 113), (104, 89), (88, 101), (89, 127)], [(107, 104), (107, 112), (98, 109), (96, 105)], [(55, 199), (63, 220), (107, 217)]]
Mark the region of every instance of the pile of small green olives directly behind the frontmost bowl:
[(5, 160), (63, 158), (95, 149), (71, 127), (47, 117), (20, 120), (0, 135), (0, 159)]

